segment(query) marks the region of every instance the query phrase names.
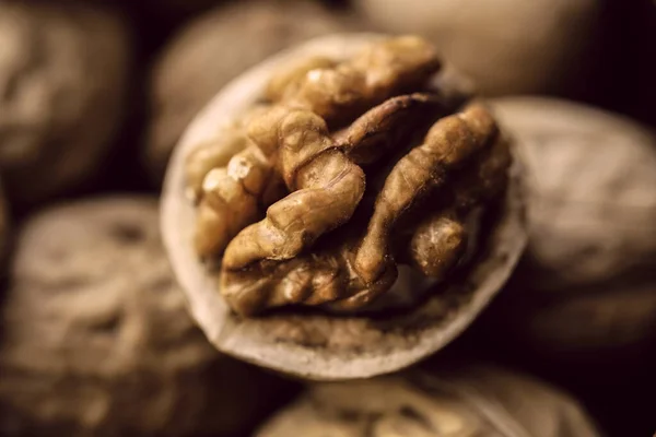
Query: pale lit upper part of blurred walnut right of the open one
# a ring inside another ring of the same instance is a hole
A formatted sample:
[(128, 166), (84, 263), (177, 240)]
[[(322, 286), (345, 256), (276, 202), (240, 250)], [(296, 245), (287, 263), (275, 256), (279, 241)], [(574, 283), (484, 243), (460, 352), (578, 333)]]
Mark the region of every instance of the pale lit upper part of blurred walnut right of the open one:
[(509, 97), (490, 105), (527, 173), (532, 284), (598, 283), (656, 263), (656, 132), (585, 105)]

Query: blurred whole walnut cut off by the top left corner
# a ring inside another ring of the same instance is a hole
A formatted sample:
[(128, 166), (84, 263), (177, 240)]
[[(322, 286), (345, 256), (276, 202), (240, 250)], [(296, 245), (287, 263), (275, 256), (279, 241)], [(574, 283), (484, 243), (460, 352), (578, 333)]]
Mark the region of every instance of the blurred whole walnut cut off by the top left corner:
[(122, 20), (82, 3), (0, 2), (0, 172), (40, 201), (87, 179), (119, 129), (130, 64)]

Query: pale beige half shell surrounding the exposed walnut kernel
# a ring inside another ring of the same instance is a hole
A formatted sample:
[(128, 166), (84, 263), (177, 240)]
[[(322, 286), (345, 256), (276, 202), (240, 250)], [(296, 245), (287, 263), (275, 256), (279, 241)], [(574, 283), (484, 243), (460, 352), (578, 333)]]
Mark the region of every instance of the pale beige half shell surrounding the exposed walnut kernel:
[[(523, 190), (517, 163), (484, 259), (465, 283), (405, 314), (366, 316), (272, 315), (243, 319), (231, 312), (192, 247), (195, 209), (185, 197), (184, 162), (199, 140), (215, 134), (220, 121), (253, 105), (271, 72), (306, 56), (344, 59), (379, 34), (338, 34), (311, 39), (276, 55), (225, 86), (197, 115), (176, 145), (162, 192), (161, 226), (174, 273), (190, 312), (221, 352), (258, 366), (315, 380), (389, 374), (437, 352), (458, 336), (488, 305), (514, 270), (526, 246)], [(466, 297), (466, 298), (464, 298)], [(446, 304), (446, 305), (445, 305)]]

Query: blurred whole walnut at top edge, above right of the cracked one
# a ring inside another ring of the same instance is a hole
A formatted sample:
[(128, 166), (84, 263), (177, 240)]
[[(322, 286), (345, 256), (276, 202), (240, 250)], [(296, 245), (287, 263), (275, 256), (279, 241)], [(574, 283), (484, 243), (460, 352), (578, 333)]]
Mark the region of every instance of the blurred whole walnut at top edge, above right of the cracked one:
[[(355, 0), (382, 31), (415, 33), (487, 95), (570, 91), (591, 62), (595, 0)], [(586, 78), (589, 80), (589, 78)]]

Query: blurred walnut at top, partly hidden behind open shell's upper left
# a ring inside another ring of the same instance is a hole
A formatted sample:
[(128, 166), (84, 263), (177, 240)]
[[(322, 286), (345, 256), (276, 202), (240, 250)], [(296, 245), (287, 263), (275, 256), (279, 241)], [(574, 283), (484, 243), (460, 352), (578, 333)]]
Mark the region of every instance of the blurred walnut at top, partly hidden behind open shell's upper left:
[(339, 32), (347, 19), (307, 0), (246, 0), (219, 5), (173, 37), (151, 73), (144, 162), (161, 181), (196, 114), (227, 82), (307, 38)]

